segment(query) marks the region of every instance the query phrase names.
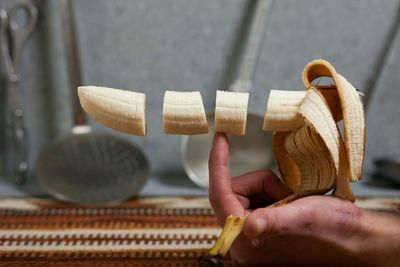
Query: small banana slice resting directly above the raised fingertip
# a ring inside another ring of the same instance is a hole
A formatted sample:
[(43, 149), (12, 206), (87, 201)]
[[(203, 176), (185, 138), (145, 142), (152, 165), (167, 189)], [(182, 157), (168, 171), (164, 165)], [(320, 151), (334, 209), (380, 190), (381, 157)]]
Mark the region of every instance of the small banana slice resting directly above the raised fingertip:
[(215, 102), (215, 131), (244, 135), (249, 93), (217, 91)]

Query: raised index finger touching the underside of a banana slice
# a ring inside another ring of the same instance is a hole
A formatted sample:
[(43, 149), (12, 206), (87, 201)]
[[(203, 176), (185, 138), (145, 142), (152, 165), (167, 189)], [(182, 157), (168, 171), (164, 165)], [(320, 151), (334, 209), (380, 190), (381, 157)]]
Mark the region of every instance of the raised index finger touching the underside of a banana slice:
[(208, 161), (209, 199), (221, 225), (228, 215), (243, 216), (244, 209), (231, 188), (228, 169), (229, 142), (224, 134), (215, 134)]

